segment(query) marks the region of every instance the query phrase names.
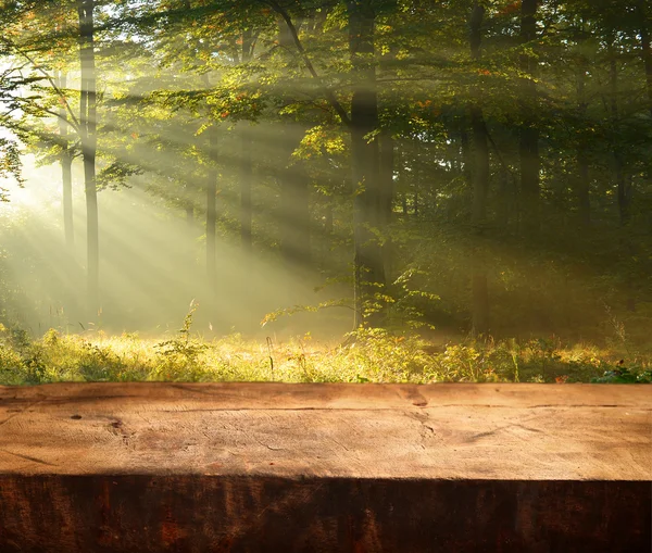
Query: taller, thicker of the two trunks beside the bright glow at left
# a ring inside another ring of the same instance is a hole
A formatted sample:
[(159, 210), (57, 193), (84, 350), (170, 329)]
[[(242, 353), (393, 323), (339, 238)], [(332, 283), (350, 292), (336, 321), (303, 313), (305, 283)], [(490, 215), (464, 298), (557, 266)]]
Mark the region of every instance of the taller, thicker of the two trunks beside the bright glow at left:
[(79, 59), (82, 65), (80, 87), (80, 138), (84, 159), (84, 190), (86, 194), (86, 236), (88, 263), (88, 311), (95, 318), (99, 314), (100, 249), (98, 224), (98, 191), (96, 185), (97, 152), (97, 93), (95, 64), (95, 0), (79, 0)]

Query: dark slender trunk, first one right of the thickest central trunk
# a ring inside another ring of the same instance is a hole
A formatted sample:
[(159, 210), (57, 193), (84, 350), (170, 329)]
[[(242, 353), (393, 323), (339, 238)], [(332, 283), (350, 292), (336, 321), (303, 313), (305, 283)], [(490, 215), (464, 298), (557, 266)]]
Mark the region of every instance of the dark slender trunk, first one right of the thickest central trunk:
[[(481, 29), (485, 8), (476, 2), (471, 14), (471, 56), (480, 60)], [(472, 102), (471, 129), (473, 141), (473, 254), (472, 254), (472, 335), (486, 335), (489, 330), (489, 291), (487, 288), (487, 265), (481, 241), (487, 223), (487, 196), (489, 193), (489, 144), (480, 99), (481, 89), (475, 90)]]

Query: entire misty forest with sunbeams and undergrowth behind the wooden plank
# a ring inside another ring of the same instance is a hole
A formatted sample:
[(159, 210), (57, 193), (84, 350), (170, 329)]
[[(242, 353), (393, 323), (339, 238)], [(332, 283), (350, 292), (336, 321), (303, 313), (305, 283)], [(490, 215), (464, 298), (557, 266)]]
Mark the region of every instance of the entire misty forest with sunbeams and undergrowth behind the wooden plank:
[(0, 385), (652, 380), (650, 0), (0, 7)]

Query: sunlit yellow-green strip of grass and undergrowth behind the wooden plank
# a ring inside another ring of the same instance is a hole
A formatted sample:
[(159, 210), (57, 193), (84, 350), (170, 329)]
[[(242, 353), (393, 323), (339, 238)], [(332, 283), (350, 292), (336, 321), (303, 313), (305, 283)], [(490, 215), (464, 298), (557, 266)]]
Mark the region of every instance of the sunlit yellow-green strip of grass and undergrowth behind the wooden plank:
[(49, 330), (30, 339), (0, 328), (0, 385), (55, 381), (284, 382), (651, 382), (652, 351), (627, 342), (569, 344), (559, 338), (436, 344), (373, 329), (342, 343), (310, 335), (285, 342), (239, 335), (204, 341)]

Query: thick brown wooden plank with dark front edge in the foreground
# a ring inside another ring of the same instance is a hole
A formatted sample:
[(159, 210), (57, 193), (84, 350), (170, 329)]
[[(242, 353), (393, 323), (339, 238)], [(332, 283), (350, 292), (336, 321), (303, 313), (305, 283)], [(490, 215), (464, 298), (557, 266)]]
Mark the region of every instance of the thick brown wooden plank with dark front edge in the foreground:
[(0, 387), (0, 552), (649, 551), (650, 390)]

